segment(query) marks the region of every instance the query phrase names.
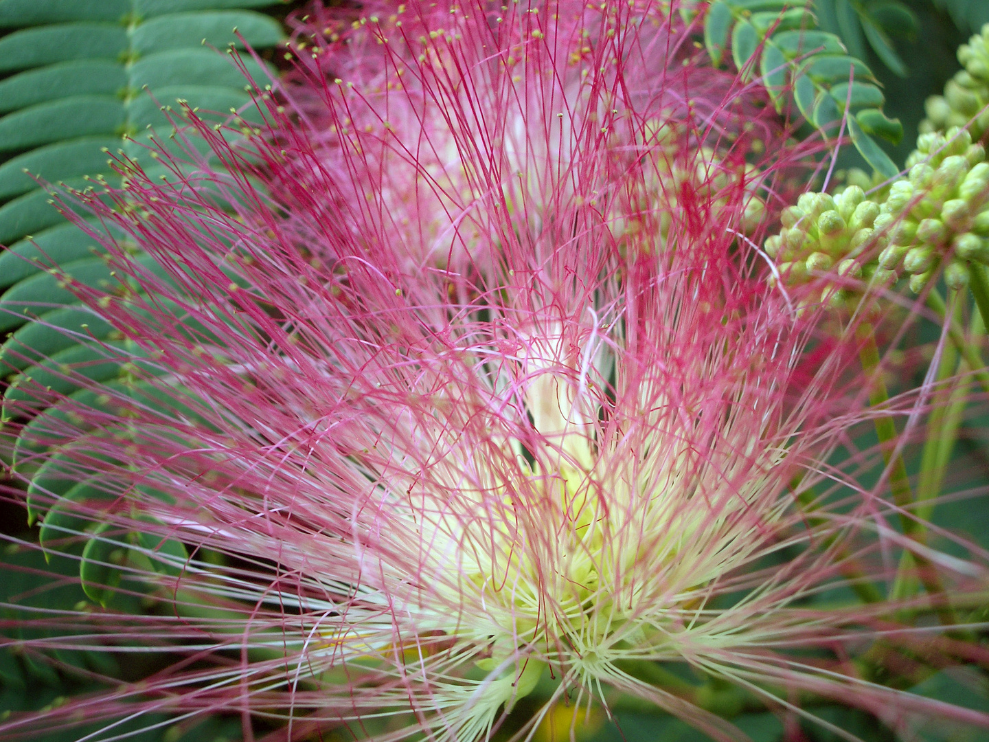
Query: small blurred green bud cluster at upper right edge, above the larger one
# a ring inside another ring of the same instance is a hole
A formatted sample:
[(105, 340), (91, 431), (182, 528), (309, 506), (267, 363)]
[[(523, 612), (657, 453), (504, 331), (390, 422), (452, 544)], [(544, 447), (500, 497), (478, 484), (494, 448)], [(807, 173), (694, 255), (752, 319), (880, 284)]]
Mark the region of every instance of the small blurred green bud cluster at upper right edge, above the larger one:
[(944, 95), (933, 95), (924, 108), (928, 118), (921, 132), (945, 132), (951, 127), (967, 127), (975, 139), (989, 131), (989, 24), (982, 27), (968, 44), (958, 47), (958, 61), (964, 69), (944, 86)]

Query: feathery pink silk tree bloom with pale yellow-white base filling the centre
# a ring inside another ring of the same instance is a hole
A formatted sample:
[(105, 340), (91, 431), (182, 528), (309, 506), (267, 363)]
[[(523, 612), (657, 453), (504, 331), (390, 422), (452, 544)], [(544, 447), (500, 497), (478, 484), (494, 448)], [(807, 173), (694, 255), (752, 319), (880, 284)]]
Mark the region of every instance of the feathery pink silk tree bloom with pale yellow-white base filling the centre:
[[(989, 722), (846, 662), (889, 604), (807, 603), (882, 569), (893, 509), (829, 463), (870, 415), (854, 328), (757, 246), (804, 164), (757, 154), (786, 135), (758, 86), (653, 2), (315, 8), (293, 48), (246, 144), (188, 112), (219, 161), (122, 163), (93, 201), (127, 279), (75, 289), (133, 362), (23, 404), (59, 414), (18, 470), (87, 482), (100, 526), (66, 534), (130, 548), (90, 594), (168, 605), (67, 617), (76, 644), (187, 659), (0, 730), (474, 742), (523, 697), (520, 738), (615, 694), (717, 740), (745, 739), (733, 703), (806, 696)], [(929, 561), (946, 590), (983, 574)]]

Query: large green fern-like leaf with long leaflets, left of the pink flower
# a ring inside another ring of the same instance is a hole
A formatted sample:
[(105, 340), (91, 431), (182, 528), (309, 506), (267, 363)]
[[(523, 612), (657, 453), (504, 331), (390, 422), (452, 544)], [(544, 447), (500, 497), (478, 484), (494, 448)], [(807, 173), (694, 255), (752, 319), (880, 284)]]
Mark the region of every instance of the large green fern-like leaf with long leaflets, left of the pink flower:
[[(0, 0), (0, 28), (12, 29), (0, 39), (0, 74), (7, 74), (0, 80), (0, 156), (7, 157), (0, 164), (0, 244), (9, 245), (0, 254), (5, 418), (12, 408), (23, 414), (23, 403), (31, 399), (27, 385), (85, 402), (93, 396), (87, 380), (128, 383), (140, 362), (135, 347), (80, 306), (68, 284), (108, 293), (136, 287), (119, 284), (94, 240), (52, 206), (53, 194), (59, 187), (98, 191), (118, 185), (108, 153), (134, 160), (148, 175), (168, 177), (146, 144), (155, 132), (167, 141), (169, 104), (177, 100), (200, 115), (218, 112), (218, 120), (231, 111), (250, 120), (243, 74), (217, 49), (278, 44), (281, 26), (251, 8), (279, 2)], [(242, 64), (256, 80), (269, 74), (249, 59)], [(38, 179), (56, 185), (49, 190)], [(153, 261), (146, 262), (153, 268)], [(29, 427), (61, 415), (57, 409), (36, 412)], [(32, 471), (32, 451), (23, 438), (0, 448), (10, 449), (15, 465), (27, 462), (29, 517), (44, 516), (43, 546), (64, 544), (82, 527), (73, 509), (99, 507), (92, 502), (93, 488), (60, 469), (57, 460)], [(141, 538), (135, 533), (125, 540), (140, 546)], [(107, 550), (126, 545), (92, 538), (82, 546), (83, 587), (92, 600), (109, 599), (114, 575), (107, 573)], [(154, 548), (165, 557), (165, 568), (167, 557), (184, 558), (180, 543)]]

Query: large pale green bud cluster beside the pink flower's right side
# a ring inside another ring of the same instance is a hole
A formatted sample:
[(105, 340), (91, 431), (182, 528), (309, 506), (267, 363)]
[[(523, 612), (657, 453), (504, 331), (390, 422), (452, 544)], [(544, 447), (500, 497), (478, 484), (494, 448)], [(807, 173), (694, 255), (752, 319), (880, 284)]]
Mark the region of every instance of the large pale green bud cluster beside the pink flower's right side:
[[(989, 163), (966, 130), (921, 135), (908, 177), (866, 197), (857, 185), (832, 197), (806, 193), (781, 215), (765, 250), (788, 282), (837, 266), (839, 276), (886, 283), (903, 274), (919, 293), (944, 261), (961, 289), (969, 263), (989, 263)], [(840, 295), (840, 296), (844, 296)]]

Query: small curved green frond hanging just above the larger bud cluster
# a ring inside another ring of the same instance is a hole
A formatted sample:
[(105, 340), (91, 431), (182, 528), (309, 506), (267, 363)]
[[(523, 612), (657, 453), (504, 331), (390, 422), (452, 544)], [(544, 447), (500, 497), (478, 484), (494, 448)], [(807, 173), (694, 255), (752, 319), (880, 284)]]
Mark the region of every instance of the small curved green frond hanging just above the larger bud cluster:
[[(872, 71), (835, 34), (817, 29), (813, 0), (713, 0), (704, 12), (704, 44), (715, 64), (729, 52), (743, 75), (759, 76), (778, 109), (791, 94), (803, 117), (826, 136), (846, 122), (865, 160), (884, 177), (900, 168), (876, 142), (903, 137)], [(848, 113), (848, 116), (846, 116)]]

